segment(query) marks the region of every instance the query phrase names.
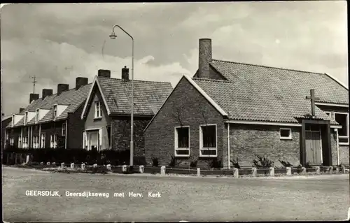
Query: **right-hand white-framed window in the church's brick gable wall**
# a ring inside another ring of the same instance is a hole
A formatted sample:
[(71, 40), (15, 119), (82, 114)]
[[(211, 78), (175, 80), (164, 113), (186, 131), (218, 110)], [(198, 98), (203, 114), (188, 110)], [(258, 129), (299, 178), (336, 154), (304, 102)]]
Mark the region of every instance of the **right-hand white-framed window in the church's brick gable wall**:
[(200, 125), (200, 157), (217, 157), (216, 124)]

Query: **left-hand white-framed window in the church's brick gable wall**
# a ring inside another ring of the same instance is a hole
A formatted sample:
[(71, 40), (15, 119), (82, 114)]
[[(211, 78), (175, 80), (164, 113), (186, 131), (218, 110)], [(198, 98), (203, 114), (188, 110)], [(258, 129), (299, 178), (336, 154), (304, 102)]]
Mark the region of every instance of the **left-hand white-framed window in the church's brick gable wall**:
[(190, 127), (175, 127), (175, 156), (190, 155)]

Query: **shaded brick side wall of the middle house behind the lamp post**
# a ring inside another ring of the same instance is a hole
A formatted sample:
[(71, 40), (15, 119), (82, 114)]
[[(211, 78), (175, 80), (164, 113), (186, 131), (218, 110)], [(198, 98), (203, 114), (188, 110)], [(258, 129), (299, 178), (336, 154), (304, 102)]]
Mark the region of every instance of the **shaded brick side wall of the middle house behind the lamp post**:
[[(134, 156), (144, 156), (145, 139), (144, 129), (151, 117), (134, 117)], [(111, 124), (112, 149), (130, 149), (130, 117), (113, 117)]]

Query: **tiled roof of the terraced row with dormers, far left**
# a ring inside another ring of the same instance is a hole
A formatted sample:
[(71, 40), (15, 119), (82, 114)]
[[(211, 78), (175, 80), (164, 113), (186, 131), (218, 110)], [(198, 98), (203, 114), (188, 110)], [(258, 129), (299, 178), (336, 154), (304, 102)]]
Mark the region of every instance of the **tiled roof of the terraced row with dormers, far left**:
[[(55, 104), (64, 104), (69, 105), (56, 120), (65, 120), (68, 117), (68, 113), (73, 113), (82, 103), (85, 102), (87, 98), (87, 94), (89, 94), (91, 84), (83, 85), (77, 91), (75, 88), (69, 89), (67, 91), (62, 92), (57, 96), (57, 94), (52, 94), (50, 96), (45, 97), (45, 99), (37, 99), (32, 101), (25, 110), (23, 110), (20, 115), (25, 115), (26, 111), (35, 111), (36, 108), (41, 109), (50, 109), (48, 113), (39, 120), (38, 123), (50, 122), (53, 120), (52, 117), (52, 108)], [(24, 117), (15, 124), (15, 127), (22, 126), (24, 124)], [(35, 117), (31, 119), (28, 124), (34, 124)], [(10, 127), (10, 124), (8, 125)]]

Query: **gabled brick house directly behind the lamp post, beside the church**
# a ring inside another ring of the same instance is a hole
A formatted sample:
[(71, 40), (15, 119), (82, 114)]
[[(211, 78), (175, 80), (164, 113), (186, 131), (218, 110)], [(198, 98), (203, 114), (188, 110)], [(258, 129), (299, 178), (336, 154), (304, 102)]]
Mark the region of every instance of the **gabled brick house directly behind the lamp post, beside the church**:
[[(130, 149), (132, 82), (129, 69), (122, 78), (99, 70), (90, 86), (81, 119), (86, 150)], [(172, 92), (169, 82), (134, 80), (134, 156), (144, 155), (144, 128)]]

